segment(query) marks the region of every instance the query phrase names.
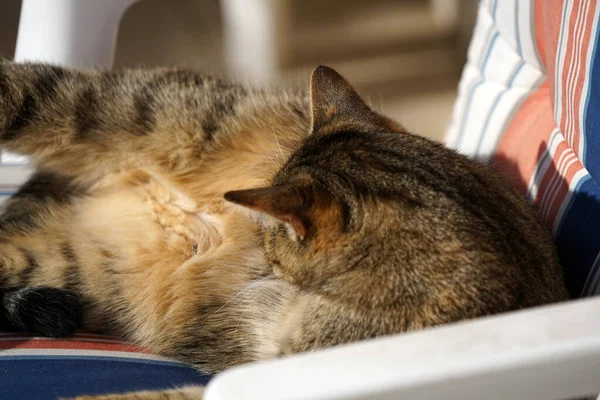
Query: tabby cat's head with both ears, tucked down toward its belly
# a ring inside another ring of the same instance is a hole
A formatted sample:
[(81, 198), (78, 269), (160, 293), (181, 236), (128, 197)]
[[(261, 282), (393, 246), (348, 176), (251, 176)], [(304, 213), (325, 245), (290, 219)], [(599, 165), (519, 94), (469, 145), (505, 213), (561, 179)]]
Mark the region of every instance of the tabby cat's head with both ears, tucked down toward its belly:
[(271, 186), (225, 198), (266, 216), (266, 256), (277, 276), (334, 292), (344, 277), (360, 283), (363, 272), (400, 262), (389, 240), (399, 213), (411, 206), (393, 182), (405, 131), (371, 110), (331, 68), (317, 68), (310, 86), (309, 138)]

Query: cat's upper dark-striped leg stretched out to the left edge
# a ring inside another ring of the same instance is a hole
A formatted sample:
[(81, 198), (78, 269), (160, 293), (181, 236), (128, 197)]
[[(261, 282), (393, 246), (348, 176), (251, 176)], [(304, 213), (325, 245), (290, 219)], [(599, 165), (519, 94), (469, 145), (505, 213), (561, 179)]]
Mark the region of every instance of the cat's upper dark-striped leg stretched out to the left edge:
[(181, 70), (107, 73), (0, 61), (0, 147), (83, 178), (132, 166), (176, 168), (201, 158), (245, 93)]

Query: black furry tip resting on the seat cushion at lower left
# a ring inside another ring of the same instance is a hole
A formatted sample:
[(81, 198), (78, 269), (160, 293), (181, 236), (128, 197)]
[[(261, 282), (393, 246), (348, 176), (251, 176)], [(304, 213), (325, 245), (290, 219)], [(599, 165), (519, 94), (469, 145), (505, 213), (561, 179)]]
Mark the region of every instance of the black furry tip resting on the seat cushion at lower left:
[(63, 289), (30, 286), (6, 291), (3, 319), (9, 328), (45, 337), (71, 336), (83, 324), (79, 296)]

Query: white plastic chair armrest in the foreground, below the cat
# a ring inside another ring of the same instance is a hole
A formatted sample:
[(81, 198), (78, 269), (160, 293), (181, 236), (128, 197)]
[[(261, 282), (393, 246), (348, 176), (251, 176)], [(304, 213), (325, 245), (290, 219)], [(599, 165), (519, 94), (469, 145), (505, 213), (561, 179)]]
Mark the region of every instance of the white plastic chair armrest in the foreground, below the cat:
[(600, 298), (249, 364), (207, 400), (560, 399), (600, 392)]

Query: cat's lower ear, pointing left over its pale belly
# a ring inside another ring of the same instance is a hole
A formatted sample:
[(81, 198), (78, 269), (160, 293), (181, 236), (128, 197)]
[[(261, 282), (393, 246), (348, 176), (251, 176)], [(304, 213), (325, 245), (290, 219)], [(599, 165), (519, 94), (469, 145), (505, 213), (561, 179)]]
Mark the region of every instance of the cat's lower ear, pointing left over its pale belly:
[(293, 240), (303, 240), (311, 225), (309, 213), (314, 196), (309, 186), (286, 184), (235, 190), (225, 193), (225, 200), (283, 222)]

